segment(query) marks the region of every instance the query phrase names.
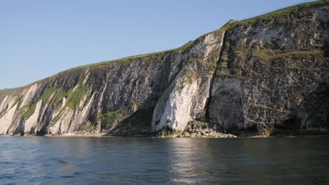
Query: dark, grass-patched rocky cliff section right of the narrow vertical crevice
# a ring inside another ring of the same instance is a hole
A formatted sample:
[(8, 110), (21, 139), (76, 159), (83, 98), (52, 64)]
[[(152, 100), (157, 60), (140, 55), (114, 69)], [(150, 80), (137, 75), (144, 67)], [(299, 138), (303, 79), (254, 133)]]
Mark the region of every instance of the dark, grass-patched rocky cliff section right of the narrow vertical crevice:
[(328, 129), (325, 4), (228, 30), (211, 95), (211, 123), (228, 132)]

